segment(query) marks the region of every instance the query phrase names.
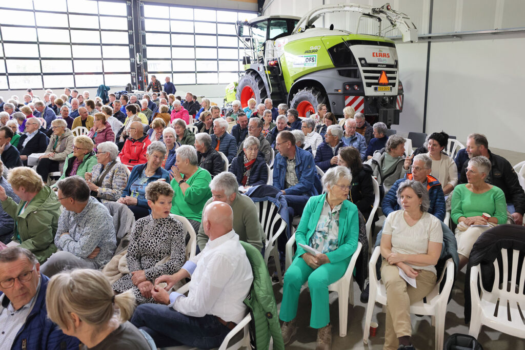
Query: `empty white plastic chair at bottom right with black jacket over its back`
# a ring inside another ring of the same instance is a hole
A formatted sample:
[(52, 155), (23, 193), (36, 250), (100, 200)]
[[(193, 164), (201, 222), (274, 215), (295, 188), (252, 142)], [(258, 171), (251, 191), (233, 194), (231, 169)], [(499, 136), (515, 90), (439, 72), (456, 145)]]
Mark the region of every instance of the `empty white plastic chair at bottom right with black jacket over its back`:
[[(512, 255), (512, 266), (508, 258)], [(520, 280), (518, 280), (519, 250), (501, 249), (502, 282), (499, 284), (498, 259), (494, 260), (494, 283), (492, 291), (487, 292), (481, 283), (481, 270), (479, 265), (470, 268), (470, 301), (472, 314), (468, 334), (477, 338), (481, 325), (484, 324), (496, 331), (510, 334), (515, 337), (525, 338), (525, 324), (520, 314), (525, 311), (525, 264), (521, 266)], [(481, 296), (478, 294), (478, 283), (481, 285)], [(496, 316), (494, 315), (496, 312)]]

